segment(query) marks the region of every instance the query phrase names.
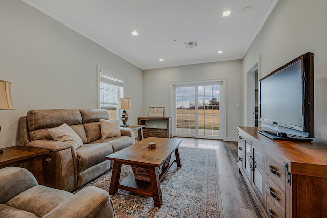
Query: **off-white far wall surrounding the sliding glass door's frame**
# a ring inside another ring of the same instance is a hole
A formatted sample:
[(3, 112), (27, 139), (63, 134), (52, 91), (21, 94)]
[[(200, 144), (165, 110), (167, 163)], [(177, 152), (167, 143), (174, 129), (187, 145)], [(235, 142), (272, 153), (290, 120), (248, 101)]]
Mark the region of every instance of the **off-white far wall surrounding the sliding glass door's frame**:
[(222, 61), (204, 64), (167, 67), (144, 70), (144, 114), (148, 115), (149, 107), (164, 106), (165, 116), (172, 117), (171, 83), (202, 80), (226, 79), (227, 139), (236, 140), (236, 127), (242, 123), (242, 61)]

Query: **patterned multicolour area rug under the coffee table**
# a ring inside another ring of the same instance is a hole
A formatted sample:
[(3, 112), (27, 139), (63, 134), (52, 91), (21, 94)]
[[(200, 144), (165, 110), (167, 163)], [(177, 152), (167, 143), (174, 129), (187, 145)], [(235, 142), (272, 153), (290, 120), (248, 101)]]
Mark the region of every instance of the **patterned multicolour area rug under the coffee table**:
[[(161, 181), (162, 206), (155, 207), (153, 199), (118, 189), (110, 195), (118, 218), (130, 217), (224, 217), (219, 186), (216, 151), (179, 147), (181, 168), (174, 163)], [(172, 155), (172, 159), (175, 159)], [(109, 192), (109, 171), (83, 185), (93, 185)], [(132, 173), (123, 165), (121, 179)]]

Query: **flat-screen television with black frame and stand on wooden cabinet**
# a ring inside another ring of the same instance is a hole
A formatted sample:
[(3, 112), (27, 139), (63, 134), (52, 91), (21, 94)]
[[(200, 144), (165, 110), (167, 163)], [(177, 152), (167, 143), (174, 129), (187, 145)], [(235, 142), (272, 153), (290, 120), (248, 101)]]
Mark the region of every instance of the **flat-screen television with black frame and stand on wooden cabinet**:
[(313, 53), (305, 53), (259, 81), (259, 131), (276, 140), (314, 137)]

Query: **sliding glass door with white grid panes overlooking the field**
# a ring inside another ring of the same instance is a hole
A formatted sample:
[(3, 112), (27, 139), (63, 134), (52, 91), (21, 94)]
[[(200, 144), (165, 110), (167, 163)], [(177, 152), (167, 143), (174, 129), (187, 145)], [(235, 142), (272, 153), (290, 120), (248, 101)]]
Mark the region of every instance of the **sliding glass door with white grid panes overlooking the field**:
[(222, 139), (222, 82), (174, 85), (176, 136)]

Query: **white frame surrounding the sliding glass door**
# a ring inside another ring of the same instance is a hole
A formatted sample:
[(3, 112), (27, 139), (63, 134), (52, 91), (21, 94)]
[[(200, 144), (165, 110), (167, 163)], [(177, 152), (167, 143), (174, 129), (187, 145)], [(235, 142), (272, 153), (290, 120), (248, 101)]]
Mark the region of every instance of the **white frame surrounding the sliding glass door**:
[[(197, 80), (197, 81), (186, 81), (186, 82), (171, 82), (171, 88), (170, 88), (170, 103), (171, 103), (171, 107), (170, 107), (170, 114), (172, 114), (173, 117), (173, 129), (172, 129), (172, 135), (175, 136), (176, 135), (176, 114), (174, 112), (174, 110), (176, 109), (176, 99), (175, 99), (175, 86), (182, 86), (182, 85), (192, 85), (192, 84), (202, 84), (202, 83), (213, 83), (213, 82), (222, 82), (222, 85), (220, 85), (221, 90), (222, 90), (222, 94), (219, 96), (221, 101), (220, 103), (222, 103), (222, 107), (219, 107), (219, 115), (223, 116), (221, 119), (221, 123), (219, 124), (219, 138), (217, 138), (216, 136), (213, 137), (206, 137), (206, 138), (213, 138), (213, 139), (222, 139), (224, 141), (226, 141), (227, 139), (227, 134), (226, 134), (226, 117), (227, 114), (225, 113), (226, 110), (226, 92), (227, 92), (227, 83), (226, 83), (226, 79), (215, 79), (215, 80)], [(219, 103), (219, 104), (220, 104)], [(221, 128), (221, 129), (220, 129)], [(186, 136), (185, 136), (186, 137)], [(190, 136), (189, 136), (190, 137)]]

